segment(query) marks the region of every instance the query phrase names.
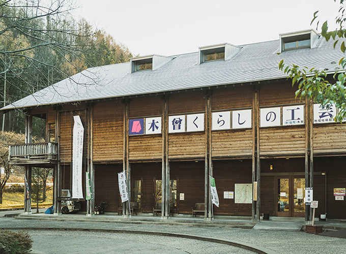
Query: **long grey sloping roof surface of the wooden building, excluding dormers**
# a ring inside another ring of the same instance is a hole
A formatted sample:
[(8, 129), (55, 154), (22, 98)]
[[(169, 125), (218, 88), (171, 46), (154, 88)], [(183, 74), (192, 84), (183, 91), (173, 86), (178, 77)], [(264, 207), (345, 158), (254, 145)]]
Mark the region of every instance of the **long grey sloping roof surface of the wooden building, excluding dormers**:
[[(230, 60), (198, 65), (198, 52), (174, 56), (158, 70), (130, 73), (130, 62), (84, 70), (2, 109), (88, 101), (153, 92), (284, 78), (278, 69), (285, 63), (335, 70), (344, 54), (333, 41), (320, 39), (317, 47), (279, 52), (279, 40), (248, 44)], [(332, 63), (336, 61), (335, 63)]]

